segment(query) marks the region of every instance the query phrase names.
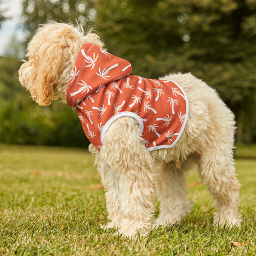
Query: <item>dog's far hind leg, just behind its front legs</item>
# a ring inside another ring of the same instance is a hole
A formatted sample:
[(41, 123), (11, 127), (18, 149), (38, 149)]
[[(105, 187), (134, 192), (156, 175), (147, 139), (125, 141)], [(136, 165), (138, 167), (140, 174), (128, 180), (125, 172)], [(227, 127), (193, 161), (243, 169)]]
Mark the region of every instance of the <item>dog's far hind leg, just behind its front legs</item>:
[(185, 173), (182, 169), (177, 169), (174, 162), (162, 164), (156, 167), (154, 172), (160, 202), (160, 212), (154, 227), (178, 223), (193, 206), (186, 198)]

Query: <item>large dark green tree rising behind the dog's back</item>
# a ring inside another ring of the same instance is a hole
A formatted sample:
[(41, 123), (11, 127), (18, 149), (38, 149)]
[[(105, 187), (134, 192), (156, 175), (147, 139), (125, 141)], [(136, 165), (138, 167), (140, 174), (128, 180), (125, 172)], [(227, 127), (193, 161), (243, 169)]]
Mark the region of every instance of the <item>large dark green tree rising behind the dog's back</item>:
[(158, 78), (190, 71), (234, 111), (238, 141), (255, 138), (255, 1), (98, 0), (96, 9), (106, 47), (127, 58), (134, 74)]

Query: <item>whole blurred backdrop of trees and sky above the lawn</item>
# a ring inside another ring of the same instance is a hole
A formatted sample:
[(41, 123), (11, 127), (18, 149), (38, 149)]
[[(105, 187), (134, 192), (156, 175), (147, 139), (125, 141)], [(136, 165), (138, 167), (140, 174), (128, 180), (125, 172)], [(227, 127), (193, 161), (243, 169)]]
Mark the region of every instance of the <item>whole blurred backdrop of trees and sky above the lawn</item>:
[(18, 82), (28, 40), (50, 20), (94, 27), (132, 74), (198, 76), (234, 112), (236, 143), (256, 143), (256, 0), (0, 0), (0, 143), (89, 145), (76, 111), (38, 106)]

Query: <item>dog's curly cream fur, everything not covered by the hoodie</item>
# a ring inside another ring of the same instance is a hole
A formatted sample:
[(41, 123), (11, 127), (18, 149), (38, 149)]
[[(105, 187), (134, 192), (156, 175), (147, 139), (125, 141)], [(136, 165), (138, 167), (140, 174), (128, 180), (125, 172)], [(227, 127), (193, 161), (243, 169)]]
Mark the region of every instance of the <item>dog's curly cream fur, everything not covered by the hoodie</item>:
[[(71, 72), (84, 42), (103, 47), (97, 34), (84, 34), (81, 28), (65, 23), (42, 25), (31, 39), (19, 80), (39, 105), (58, 98), (66, 102)], [(130, 117), (111, 124), (100, 151), (89, 146), (106, 191), (110, 220), (106, 228), (116, 227), (119, 233), (134, 236), (137, 231), (147, 234), (159, 225), (180, 222), (192, 207), (186, 198), (185, 174), (195, 164), (215, 200), (214, 222), (239, 225), (233, 114), (214, 89), (190, 73), (162, 79), (179, 84), (189, 102), (186, 126), (173, 148), (147, 151), (138, 122)], [(154, 188), (160, 201), (156, 220)]]

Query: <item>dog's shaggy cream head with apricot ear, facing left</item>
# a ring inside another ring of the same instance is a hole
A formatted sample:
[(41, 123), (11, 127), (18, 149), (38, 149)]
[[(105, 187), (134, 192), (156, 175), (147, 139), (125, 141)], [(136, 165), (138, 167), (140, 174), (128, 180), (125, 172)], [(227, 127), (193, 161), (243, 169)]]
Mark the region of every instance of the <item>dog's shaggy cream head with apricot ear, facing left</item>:
[(65, 23), (42, 25), (31, 39), (19, 80), (39, 105), (50, 105), (59, 97), (56, 88), (68, 84), (82, 41), (80, 31)]

